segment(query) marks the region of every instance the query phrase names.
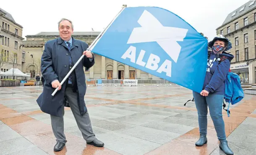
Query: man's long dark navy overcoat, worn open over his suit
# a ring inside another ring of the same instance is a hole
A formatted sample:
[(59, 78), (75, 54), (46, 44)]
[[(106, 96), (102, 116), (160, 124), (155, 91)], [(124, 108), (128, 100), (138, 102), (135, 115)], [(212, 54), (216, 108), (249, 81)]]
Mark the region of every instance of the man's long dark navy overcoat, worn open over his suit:
[[(58, 79), (60, 82), (68, 74), (69, 67), (69, 54), (71, 54), (73, 64), (76, 64), (78, 59), (82, 56), (83, 52), (88, 48), (88, 44), (82, 41), (78, 41), (72, 38), (73, 43), (71, 51), (68, 51), (68, 47), (61, 38), (57, 38), (51, 41), (47, 41), (44, 45), (44, 51), (41, 58), (41, 71), (44, 76), (44, 89), (43, 93), (38, 97), (37, 103), (41, 110), (45, 113), (62, 116), (61, 107), (64, 106), (64, 94), (66, 82), (63, 83), (61, 89), (52, 97), (52, 92), (55, 88), (52, 88), (52, 81)], [(81, 116), (87, 112), (87, 108), (84, 102), (84, 95), (86, 93), (86, 81), (84, 74), (84, 67), (89, 69), (94, 65), (93, 60), (84, 56), (82, 61), (74, 69), (77, 82), (77, 99), (78, 107), (80, 109)]]

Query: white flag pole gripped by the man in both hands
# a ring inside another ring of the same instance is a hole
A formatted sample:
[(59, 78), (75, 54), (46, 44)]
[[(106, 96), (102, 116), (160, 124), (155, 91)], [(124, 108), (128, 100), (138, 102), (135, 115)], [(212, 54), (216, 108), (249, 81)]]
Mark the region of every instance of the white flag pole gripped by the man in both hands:
[[(94, 46), (94, 44), (99, 40), (99, 38), (106, 32), (106, 30), (110, 27), (110, 25), (114, 22), (114, 20), (118, 17), (118, 15), (120, 15), (120, 13), (127, 7), (127, 5), (123, 5), (122, 9), (120, 10), (120, 12), (115, 16), (115, 18), (110, 22), (109, 25), (107, 25), (107, 28), (104, 29), (101, 33), (99, 33), (99, 35), (97, 36), (97, 38), (91, 43), (91, 45), (89, 46), (89, 48), (87, 48), (87, 50), (91, 50), (91, 48)], [(76, 66), (79, 64), (79, 62), (84, 58), (84, 55), (82, 55), (78, 61), (76, 62), (76, 64), (72, 67), (72, 69), (68, 72), (68, 74), (65, 76), (65, 78), (60, 82), (60, 85), (63, 85), (63, 83), (66, 81), (66, 79), (68, 78), (68, 76), (72, 73), (72, 71), (76, 68)], [(57, 87), (55, 89), (55, 91), (52, 93), (52, 96), (55, 95), (55, 93), (58, 91)]]

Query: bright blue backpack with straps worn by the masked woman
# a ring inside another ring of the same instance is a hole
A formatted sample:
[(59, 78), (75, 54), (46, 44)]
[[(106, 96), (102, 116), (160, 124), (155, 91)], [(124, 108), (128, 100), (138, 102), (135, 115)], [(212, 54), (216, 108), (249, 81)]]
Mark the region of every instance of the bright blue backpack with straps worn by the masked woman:
[[(209, 58), (209, 53), (208, 53), (208, 58)], [(222, 61), (224, 61), (226, 59), (226, 57), (222, 57), (221, 60), (219, 61), (219, 63), (221, 63)], [(227, 109), (224, 109), (227, 111), (227, 116), (230, 117), (230, 111), (229, 111), (229, 106), (230, 103), (236, 104), (238, 102), (240, 102), (244, 97), (243, 94), (243, 89), (241, 87), (240, 84), (240, 76), (238, 76), (238, 74), (232, 73), (232, 72), (228, 72), (227, 74), (227, 78), (225, 79), (225, 94), (224, 94), (224, 100), (223, 100), (223, 109), (226, 107), (226, 104), (224, 103), (224, 101), (228, 104)], [(186, 106), (186, 104), (192, 101), (194, 102), (194, 98), (188, 100), (184, 106)]]

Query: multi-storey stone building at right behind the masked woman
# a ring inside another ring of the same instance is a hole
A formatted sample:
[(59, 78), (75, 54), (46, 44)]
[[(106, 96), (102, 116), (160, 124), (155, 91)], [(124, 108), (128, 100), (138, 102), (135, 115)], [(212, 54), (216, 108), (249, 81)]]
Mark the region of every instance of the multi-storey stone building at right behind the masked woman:
[(230, 69), (240, 75), (242, 83), (256, 83), (256, 2), (250, 0), (227, 15), (217, 34), (232, 43), (230, 51), (235, 57)]

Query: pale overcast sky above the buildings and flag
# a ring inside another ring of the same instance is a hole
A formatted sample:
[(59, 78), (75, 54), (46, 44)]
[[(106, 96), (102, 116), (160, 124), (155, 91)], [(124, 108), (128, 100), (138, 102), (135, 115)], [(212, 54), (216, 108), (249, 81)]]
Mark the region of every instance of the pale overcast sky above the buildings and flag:
[[(23, 38), (42, 31), (58, 31), (61, 18), (73, 21), (74, 31), (102, 31), (123, 4), (157, 6), (177, 14), (212, 39), (227, 15), (248, 0), (1, 0), (0, 8), (23, 26)], [(38, 3), (38, 4), (36, 4)], [(26, 40), (26, 38), (25, 38)]]

